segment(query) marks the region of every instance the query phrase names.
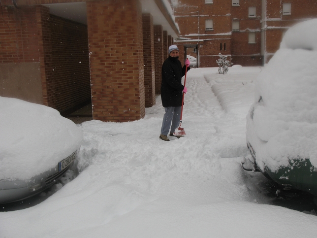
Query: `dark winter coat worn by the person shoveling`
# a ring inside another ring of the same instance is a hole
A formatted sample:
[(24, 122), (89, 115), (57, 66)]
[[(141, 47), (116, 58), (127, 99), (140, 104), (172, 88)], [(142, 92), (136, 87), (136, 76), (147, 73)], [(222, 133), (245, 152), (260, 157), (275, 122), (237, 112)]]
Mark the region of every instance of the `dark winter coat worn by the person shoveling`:
[[(190, 68), (188, 67), (187, 70)], [(168, 56), (162, 66), (162, 83), (160, 96), (163, 107), (182, 106), (183, 90), (182, 77), (185, 75), (186, 66), (182, 68), (177, 58)]]

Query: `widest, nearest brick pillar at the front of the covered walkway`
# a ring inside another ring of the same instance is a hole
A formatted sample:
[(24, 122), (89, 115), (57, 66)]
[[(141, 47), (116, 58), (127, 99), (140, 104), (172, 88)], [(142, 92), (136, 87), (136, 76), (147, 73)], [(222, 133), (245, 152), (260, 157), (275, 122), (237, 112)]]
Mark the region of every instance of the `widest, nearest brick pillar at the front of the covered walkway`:
[(142, 8), (139, 0), (87, 1), (93, 118), (145, 116)]

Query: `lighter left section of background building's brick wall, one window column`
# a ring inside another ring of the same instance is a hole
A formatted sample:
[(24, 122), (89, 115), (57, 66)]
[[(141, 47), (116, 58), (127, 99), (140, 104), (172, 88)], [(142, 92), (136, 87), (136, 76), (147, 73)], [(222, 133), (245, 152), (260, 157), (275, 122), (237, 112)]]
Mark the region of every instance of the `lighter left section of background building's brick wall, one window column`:
[[(183, 47), (182, 44), (198, 44), (199, 67), (217, 67), (219, 53), (231, 54), (231, 35), (228, 34), (231, 32), (231, 0), (214, 1), (212, 4), (206, 4), (205, 0), (185, 0), (182, 3), (175, 10), (181, 35), (186, 38), (187, 34), (191, 34), (190, 38), (197, 41), (177, 42), (179, 48)], [(206, 30), (205, 22), (209, 19), (213, 20), (213, 30)], [(180, 55), (182, 64), (185, 57)]]

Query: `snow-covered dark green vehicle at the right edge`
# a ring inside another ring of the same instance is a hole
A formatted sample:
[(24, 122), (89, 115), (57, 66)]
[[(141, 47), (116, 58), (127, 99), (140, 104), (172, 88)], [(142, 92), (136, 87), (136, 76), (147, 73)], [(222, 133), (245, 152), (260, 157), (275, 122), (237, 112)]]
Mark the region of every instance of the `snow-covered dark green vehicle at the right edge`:
[[(291, 27), (255, 81), (247, 146), (255, 169), (317, 198), (317, 19)], [(317, 201), (317, 200), (316, 200)]]

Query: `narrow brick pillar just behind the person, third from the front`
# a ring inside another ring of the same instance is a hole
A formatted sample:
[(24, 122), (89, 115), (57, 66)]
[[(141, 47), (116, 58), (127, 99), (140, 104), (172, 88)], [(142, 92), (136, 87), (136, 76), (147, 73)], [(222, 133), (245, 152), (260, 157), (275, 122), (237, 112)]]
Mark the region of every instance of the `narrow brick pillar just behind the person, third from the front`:
[(161, 25), (154, 26), (154, 54), (155, 54), (155, 92), (160, 94), (162, 82), (162, 65), (164, 62), (163, 28)]

